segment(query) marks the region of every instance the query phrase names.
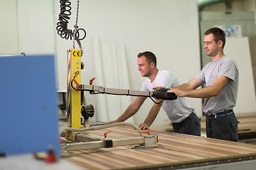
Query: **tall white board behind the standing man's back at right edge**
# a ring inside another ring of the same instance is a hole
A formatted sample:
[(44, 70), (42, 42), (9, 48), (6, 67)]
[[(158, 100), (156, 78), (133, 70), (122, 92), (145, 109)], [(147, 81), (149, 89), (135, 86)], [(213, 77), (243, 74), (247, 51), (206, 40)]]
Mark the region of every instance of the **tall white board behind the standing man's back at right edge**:
[(255, 112), (255, 86), (248, 38), (227, 38), (224, 53), (232, 57), (239, 67), (238, 101), (234, 108), (235, 113)]

